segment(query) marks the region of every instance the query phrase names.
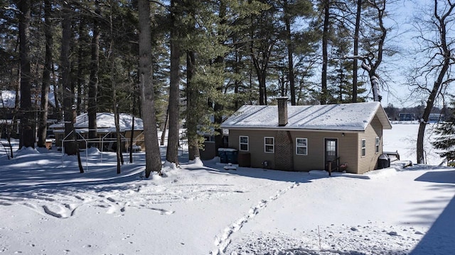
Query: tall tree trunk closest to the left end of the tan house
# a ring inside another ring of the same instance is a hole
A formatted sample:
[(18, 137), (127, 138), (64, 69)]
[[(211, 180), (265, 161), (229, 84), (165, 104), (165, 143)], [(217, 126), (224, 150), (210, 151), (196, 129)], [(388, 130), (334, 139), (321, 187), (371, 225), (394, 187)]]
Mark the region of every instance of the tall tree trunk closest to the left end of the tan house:
[(194, 65), (196, 58), (194, 52), (189, 50), (186, 55), (186, 128), (188, 137), (188, 158), (194, 160), (200, 157), (198, 136), (198, 89), (193, 82)]

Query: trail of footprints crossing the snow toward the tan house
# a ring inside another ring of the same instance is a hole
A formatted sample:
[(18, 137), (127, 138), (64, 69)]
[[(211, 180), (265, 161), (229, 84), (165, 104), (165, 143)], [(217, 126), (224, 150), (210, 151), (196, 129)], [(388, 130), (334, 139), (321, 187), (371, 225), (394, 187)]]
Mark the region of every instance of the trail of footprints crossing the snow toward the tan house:
[(277, 193), (274, 196), (271, 196), (268, 200), (262, 199), (257, 203), (257, 205), (254, 208), (250, 208), (248, 213), (244, 215), (243, 217), (240, 217), (240, 219), (236, 220), (233, 222), (231, 225), (225, 228), (222, 234), (219, 236), (217, 235), (215, 237), (215, 246), (216, 249), (214, 251), (211, 251), (211, 254), (214, 255), (221, 255), (224, 254), (226, 248), (230, 244), (230, 237), (232, 234), (235, 232), (239, 231), (245, 223), (247, 223), (249, 220), (252, 220), (262, 209), (267, 207), (267, 204), (271, 201), (277, 200), (279, 196), (282, 196), (284, 193), (287, 193), (291, 188), (295, 188), (296, 186), (299, 186), (299, 183), (292, 183), (291, 186), (284, 188), (283, 190), (277, 191)]

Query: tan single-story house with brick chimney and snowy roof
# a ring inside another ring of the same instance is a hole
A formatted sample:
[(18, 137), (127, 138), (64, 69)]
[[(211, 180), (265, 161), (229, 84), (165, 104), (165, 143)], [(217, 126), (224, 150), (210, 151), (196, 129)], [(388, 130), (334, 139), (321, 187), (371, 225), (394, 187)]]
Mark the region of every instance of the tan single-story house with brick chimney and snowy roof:
[[(240, 166), (287, 171), (377, 169), (382, 130), (391, 129), (379, 102), (321, 106), (242, 106), (221, 128)], [(246, 159), (247, 162), (242, 162)]]

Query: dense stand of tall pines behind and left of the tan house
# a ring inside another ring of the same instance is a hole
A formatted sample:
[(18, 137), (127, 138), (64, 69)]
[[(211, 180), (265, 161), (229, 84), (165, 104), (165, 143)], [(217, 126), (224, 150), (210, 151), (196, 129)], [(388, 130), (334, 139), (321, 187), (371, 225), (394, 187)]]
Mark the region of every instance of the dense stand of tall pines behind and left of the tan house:
[(223, 116), (245, 103), (267, 105), (277, 96), (292, 105), (380, 101), (382, 56), (395, 53), (385, 45), (388, 3), (2, 1), (1, 89), (20, 91), (23, 146), (34, 146), (35, 127), (44, 146), (53, 92), (65, 134), (79, 113), (89, 115), (89, 139), (97, 112), (132, 113), (154, 132), (166, 125), (166, 160), (178, 164), (183, 121), (195, 159), (199, 131), (215, 127), (220, 147)]

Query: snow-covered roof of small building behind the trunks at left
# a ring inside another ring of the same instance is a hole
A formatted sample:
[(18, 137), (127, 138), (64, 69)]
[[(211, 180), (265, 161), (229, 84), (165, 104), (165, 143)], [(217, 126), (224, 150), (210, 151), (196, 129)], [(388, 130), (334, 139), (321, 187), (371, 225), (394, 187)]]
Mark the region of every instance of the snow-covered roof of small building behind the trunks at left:
[[(120, 113), (119, 118), (120, 130), (132, 130), (132, 115), (129, 115), (127, 113)], [(64, 123), (56, 123), (50, 125), (50, 128), (64, 128), (64, 125)], [(77, 129), (88, 128), (87, 113), (82, 113), (76, 117), (76, 123), (74, 124), (74, 127)], [(97, 128), (98, 130), (114, 130), (114, 113), (97, 113)], [(142, 122), (141, 118), (134, 118), (134, 130), (144, 130), (144, 123)]]

